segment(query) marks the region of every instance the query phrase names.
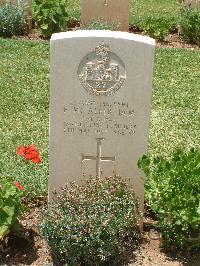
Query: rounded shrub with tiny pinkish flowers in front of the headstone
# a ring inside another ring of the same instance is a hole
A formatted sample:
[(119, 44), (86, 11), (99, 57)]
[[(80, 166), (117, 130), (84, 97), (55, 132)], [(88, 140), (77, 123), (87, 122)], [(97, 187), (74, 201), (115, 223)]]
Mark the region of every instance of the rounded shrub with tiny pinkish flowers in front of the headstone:
[(54, 194), (41, 231), (60, 263), (117, 265), (140, 238), (138, 203), (120, 177), (90, 178)]

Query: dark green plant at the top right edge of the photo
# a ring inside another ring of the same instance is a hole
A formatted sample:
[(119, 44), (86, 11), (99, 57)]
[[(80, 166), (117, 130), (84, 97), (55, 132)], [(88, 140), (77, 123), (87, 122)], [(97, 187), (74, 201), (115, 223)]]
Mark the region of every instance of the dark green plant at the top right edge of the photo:
[(200, 9), (184, 8), (181, 13), (180, 27), (186, 42), (200, 45)]

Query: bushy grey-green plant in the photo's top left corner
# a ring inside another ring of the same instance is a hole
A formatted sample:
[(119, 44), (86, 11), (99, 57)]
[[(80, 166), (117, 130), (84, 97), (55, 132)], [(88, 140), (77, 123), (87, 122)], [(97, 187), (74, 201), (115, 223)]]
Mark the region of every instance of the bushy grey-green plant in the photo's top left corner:
[(26, 29), (23, 6), (7, 2), (0, 6), (0, 36), (22, 35)]

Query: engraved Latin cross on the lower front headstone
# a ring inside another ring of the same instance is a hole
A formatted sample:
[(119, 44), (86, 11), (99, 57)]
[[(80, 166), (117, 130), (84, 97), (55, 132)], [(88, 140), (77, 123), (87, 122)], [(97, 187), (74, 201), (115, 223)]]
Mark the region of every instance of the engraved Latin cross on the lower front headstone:
[(101, 175), (101, 162), (115, 162), (115, 156), (112, 157), (105, 157), (102, 156), (102, 140), (103, 138), (97, 138), (97, 156), (85, 156), (84, 154), (82, 154), (82, 163), (84, 161), (90, 161), (90, 160), (94, 160), (96, 161), (96, 175), (98, 177), (100, 177)]

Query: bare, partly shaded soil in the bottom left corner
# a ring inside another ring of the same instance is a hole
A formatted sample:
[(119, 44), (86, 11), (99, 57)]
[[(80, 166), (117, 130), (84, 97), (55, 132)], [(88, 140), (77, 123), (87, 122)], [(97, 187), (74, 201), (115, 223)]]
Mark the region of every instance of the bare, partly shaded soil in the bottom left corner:
[(47, 244), (40, 236), (40, 208), (34, 207), (21, 220), (22, 234), (10, 234), (6, 244), (0, 246), (0, 265), (45, 265), (51, 262), (51, 255)]

